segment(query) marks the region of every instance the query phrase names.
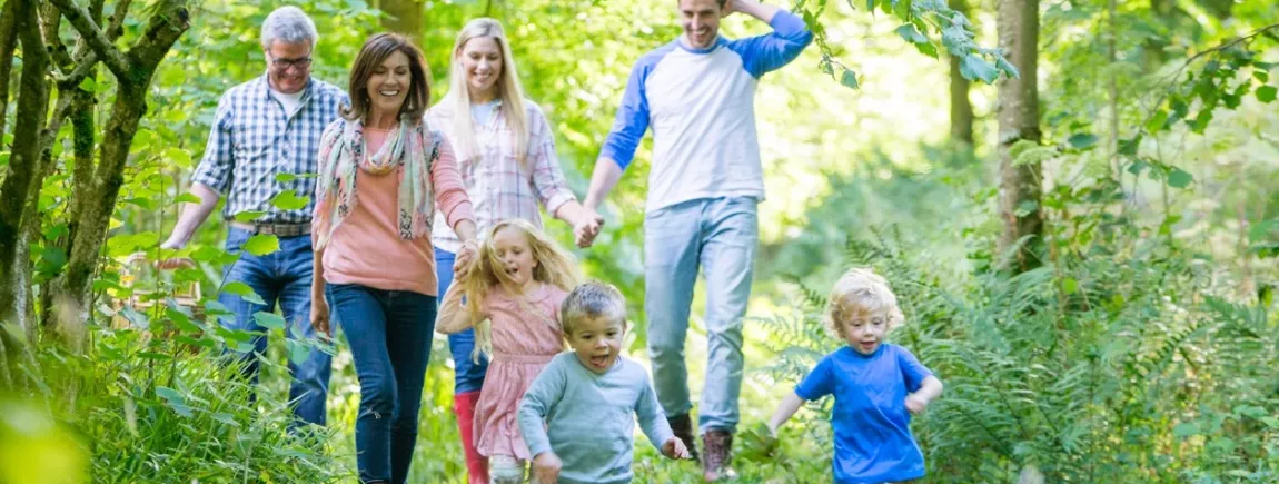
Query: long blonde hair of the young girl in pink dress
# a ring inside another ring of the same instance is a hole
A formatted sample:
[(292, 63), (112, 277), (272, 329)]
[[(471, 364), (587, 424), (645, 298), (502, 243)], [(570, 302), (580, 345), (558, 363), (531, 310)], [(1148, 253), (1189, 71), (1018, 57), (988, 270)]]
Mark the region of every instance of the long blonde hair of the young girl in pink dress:
[(494, 243), (498, 232), (504, 229), (519, 230), (524, 234), (533, 260), (537, 261), (537, 266), (533, 268), (533, 280), (555, 286), (565, 292), (573, 291), (578, 282), (582, 280), (581, 273), (577, 269), (577, 257), (560, 248), (555, 241), (550, 239), (550, 237), (528, 220), (509, 219), (494, 224), (492, 229), (483, 237), (483, 242), (480, 245), (480, 255), (471, 265), (467, 280), (463, 283), (467, 294), (467, 310), (471, 311), (472, 320), (480, 321), (476, 324), (476, 350), (472, 355), (475, 359), (478, 359), (481, 352), (492, 355), (492, 321), (483, 316), (483, 307), (485, 301), (499, 287), (519, 300), (524, 306), (523, 309), (530, 311), (530, 314), (542, 315), (546, 319), (555, 316), (547, 316), (532, 307), (528, 300), (524, 298), (524, 294), (521, 293), (521, 288), (510, 278), (510, 274), (506, 274)]

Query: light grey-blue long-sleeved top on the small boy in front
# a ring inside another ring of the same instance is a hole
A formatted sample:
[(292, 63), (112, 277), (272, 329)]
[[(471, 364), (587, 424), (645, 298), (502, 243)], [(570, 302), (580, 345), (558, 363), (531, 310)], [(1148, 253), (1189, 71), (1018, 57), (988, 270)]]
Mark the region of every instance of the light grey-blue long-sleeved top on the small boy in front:
[(550, 451), (560, 458), (560, 484), (629, 483), (636, 415), (659, 451), (675, 437), (642, 366), (618, 357), (597, 374), (568, 351), (528, 387), (519, 403), (519, 432), (533, 457)]

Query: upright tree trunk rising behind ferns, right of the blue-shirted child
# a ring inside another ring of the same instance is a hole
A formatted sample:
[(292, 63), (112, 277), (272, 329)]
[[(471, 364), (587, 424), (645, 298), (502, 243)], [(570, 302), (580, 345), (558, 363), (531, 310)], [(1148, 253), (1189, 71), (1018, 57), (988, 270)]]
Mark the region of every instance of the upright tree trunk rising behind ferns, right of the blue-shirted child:
[(1004, 230), (999, 254), (1030, 237), (1017, 250), (1013, 271), (1040, 265), (1036, 247), (1042, 245), (1044, 219), (1040, 213), (1041, 168), (1037, 163), (1013, 165), (1009, 149), (1019, 141), (1040, 142), (1037, 47), (1039, 0), (999, 0), (999, 47), (1021, 70), (1019, 78), (1005, 78), (999, 85), (999, 218)]

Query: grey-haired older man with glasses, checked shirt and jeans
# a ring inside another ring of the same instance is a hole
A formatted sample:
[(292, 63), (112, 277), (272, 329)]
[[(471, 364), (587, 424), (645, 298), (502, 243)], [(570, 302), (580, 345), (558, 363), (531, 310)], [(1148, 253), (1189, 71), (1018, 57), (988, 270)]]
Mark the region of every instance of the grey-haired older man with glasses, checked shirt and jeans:
[[(310, 321), (315, 202), (281, 209), (272, 201), (285, 193), (310, 197), (315, 192), (315, 178), (310, 174), (317, 172), (320, 136), (338, 119), (339, 108), (349, 105), (341, 88), (311, 78), (311, 55), (317, 40), (315, 22), (295, 6), (267, 15), (262, 23), (266, 73), (231, 87), (219, 100), (205, 156), (192, 175), (191, 193), (200, 202), (185, 206), (161, 245), (185, 246), (214, 211), (220, 195), (226, 193), (223, 209), (230, 225), (226, 250), (239, 254), (239, 260), (224, 268), (223, 277), (226, 284), (247, 284), (261, 301), (224, 292), (219, 302), (234, 312), (234, 319), (226, 315), (220, 319), (229, 329), (253, 333), (252, 348), (231, 350), (242, 357), (244, 375), (255, 384), (258, 357), (267, 343), (257, 312), (274, 312), (279, 306), (290, 339), (315, 337)], [(237, 219), (237, 214), (257, 216)], [(242, 252), (242, 246), (256, 234), (275, 236), (279, 250), (266, 255)], [(310, 350), (304, 361), (290, 359), (289, 373), (294, 415), (302, 423), (324, 425), (330, 356)]]

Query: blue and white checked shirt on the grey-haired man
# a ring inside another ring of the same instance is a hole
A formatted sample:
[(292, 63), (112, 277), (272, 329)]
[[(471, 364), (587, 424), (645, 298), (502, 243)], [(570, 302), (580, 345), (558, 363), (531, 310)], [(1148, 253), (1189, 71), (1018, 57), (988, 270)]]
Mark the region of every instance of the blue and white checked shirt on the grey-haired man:
[[(224, 218), (242, 211), (265, 211), (253, 223), (308, 223), (315, 213), (316, 156), (320, 136), (349, 105), (347, 92), (311, 78), (302, 104), (292, 117), (271, 97), (266, 76), (231, 87), (217, 101), (217, 114), (208, 131), (205, 157), (192, 175), (226, 195)], [(280, 178), (292, 178), (280, 181)], [(292, 175), (292, 177), (290, 177)], [(312, 198), (304, 207), (280, 210), (275, 196), (292, 190)]]

